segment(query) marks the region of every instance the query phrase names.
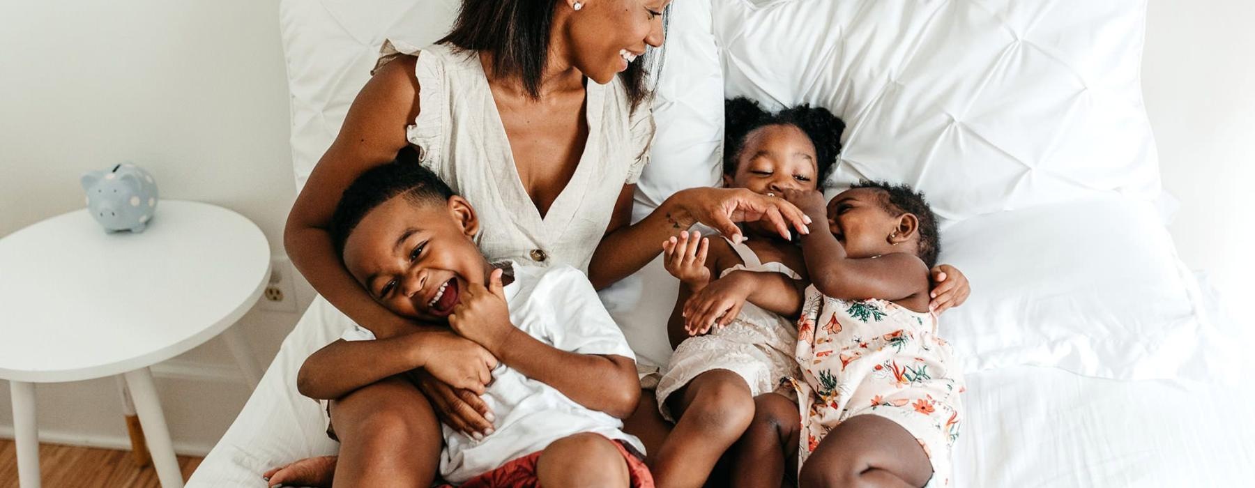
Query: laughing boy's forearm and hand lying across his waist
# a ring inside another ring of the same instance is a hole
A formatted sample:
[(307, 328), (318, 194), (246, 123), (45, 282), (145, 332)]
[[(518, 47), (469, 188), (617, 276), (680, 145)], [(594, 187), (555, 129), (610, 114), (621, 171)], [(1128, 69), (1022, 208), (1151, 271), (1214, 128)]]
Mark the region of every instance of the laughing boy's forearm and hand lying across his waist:
[(497, 359), (449, 331), (418, 331), (380, 340), (336, 340), (311, 354), (296, 375), (305, 396), (333, 400), (382, 379), (424, 368), (449, 386), (484, 391)]

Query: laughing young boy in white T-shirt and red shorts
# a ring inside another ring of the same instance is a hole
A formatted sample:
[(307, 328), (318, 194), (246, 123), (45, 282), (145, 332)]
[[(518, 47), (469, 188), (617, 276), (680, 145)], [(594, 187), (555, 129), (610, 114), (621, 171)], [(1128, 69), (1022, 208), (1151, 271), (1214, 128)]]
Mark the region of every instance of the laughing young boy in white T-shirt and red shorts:
[[(373, 420), (404, 416), (404, 405), (390, 403), (425, 401), (395, 378), (423, 368), (482, 391), (494, 414), (488, 435), (442, 427), (446, 480), (653, 487), (640, 440), (621, 430), (640, 394), (635, 358), (587, 278), (570, 266), (489, 263), (474, 243), (478, 230), (474, 208), (419, 164), (376, 167), (345, 189), (330, 232), (348, 271), (393, 312), (448, 324), (456, 336), (374, 340), (355, 326), (310, 355), (297, 384), (307, 396), (335, 399), (334, 483), (430, 483), (430, 474), (414, 478), (424, 462), (405, 452), (405, 437), (395, 434), (405, 429)], [(350, 408), (368, 389), (382, 401)]]

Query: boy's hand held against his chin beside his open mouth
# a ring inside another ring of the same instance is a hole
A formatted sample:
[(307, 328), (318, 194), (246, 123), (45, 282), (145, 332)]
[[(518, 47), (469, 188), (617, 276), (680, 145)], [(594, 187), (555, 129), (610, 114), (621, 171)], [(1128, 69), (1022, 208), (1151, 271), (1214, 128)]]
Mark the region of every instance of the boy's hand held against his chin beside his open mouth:
[(467, 286), (462, 300), (449, 315), (449, 326), (458, 335), (482, 345), (493, 356), (501, 356), (501, 349), (518, 329), (510, 322), (510, 309), (506, 306), (506, 291), (501, 285), (499, 268), (488, 276), (488, 287), (483, 285)]

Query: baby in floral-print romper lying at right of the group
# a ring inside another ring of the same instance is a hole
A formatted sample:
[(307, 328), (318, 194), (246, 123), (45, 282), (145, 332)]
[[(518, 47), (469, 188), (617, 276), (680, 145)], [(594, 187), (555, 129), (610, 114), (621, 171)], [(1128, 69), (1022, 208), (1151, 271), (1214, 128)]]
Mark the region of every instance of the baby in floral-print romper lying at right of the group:
[[(759, 403), (738, 460), (767, 475), (796, 459), (806, 487), (948, 485), (964, 386), (929, 310), (940, 243), (924, 196), (863, 182), (827, 206), (817, 191), (783, 197), (812, 221), (828, 221), (828, 232), (801, 238), (811, 285), (803, 291), (801, 280), (737, 272), (685, 307), (697, 324), (744, 300), (801, 315), (801, 374), (789, 380), (798, 405), (784, 396)], [(796, 458), (787, 455), (794, 449)]]

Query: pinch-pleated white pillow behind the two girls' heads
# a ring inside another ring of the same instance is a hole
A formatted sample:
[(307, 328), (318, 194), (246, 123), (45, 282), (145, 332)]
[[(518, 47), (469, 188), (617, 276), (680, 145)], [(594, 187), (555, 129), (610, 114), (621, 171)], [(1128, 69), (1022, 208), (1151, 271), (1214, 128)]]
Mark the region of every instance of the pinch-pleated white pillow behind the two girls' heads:
[(948, 220), (1160, 192), (1145, 0), (713, 5), (728, 97), (845, 119), (832, 182), (906, 182)]

